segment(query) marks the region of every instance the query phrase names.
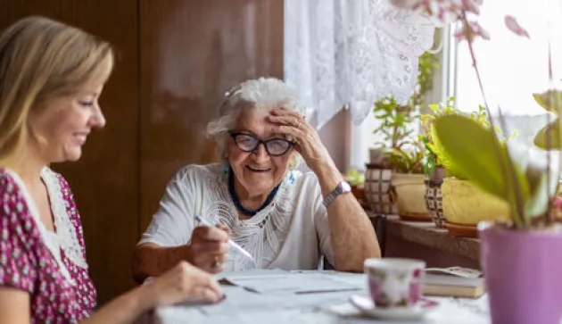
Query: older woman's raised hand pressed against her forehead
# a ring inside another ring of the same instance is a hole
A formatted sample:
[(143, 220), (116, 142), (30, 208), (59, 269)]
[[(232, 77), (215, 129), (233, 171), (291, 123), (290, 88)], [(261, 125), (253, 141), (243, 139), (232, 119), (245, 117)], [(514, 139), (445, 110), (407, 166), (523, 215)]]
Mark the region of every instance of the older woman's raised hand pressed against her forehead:
[(277, 124), (275, 133), (286, 134), (294, 138), (295, 149), (302, 155), (302, 159), (311, 170), (320, 163), (333, 164), (326, 146), (322, 144), (318, 132), (312, 128), (304, 117), (298, 112), (285, 108), (274, 108), (269, 112), (268, 120)]

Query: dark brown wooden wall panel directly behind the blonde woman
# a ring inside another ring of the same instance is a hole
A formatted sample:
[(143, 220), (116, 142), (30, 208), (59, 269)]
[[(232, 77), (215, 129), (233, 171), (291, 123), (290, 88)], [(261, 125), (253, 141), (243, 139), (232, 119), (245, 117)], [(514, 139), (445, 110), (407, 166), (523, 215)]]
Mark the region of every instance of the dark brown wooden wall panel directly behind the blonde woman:
[(137, 0), (0, 0), (0, 29), (30, 14), (64, 21), (109, 40), (120, 52), (100, 104), (107, 126), (79, 162), (54, 165), (69, 180), (84, 225), (99, 302), (133, 286), (130, 257), (138, 218)]

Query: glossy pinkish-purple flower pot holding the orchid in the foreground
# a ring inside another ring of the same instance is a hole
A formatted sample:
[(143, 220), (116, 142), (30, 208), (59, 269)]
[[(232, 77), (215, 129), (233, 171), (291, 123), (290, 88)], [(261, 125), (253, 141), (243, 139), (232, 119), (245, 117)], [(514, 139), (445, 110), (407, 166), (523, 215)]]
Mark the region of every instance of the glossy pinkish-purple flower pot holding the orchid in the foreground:
[(479, 229), (492, 323), (559, 324), (562, 233), (509, 230), (490, 223)]

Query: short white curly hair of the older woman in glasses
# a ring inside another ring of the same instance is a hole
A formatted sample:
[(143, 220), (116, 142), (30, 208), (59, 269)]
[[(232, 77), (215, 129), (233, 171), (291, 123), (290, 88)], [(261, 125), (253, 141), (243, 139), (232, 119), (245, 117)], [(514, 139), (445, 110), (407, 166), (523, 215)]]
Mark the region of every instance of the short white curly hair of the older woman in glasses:
[[(219, 105), (219, 118), (211, 120), (207, 124), (206, 131), (207, 137), (213, 138), (217, 143), (217, 156), (221, 162), (228, 164), (226, 154), (228, 131), (234, 128), (238, 115), (243, 109), (268, 112), (273, 107), (281, 106), (299, 112), (303, 116), (306, 112), (306, 107), (301, 104), (296, 90), (280, 79), (249, 79), (230, 89)], [(289, 167), (294, 169), (301, 160), (300, 154), (296, 154), (296, 159)]]

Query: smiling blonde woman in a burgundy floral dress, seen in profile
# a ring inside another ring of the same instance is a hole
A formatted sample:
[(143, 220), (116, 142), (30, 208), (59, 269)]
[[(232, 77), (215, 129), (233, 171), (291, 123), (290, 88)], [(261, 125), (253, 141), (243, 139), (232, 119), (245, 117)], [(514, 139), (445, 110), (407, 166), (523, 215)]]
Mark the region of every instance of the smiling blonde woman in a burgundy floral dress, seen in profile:
[(0, 323), (129, 323), (158, 305), (222, 295), (207, 273), (179, 262), (92, 315), (79, 212), (48, 165), (79, 160), (105, 124), (98, 97), (112, 65), (108, 43), (45, 18), (0, 36)]

